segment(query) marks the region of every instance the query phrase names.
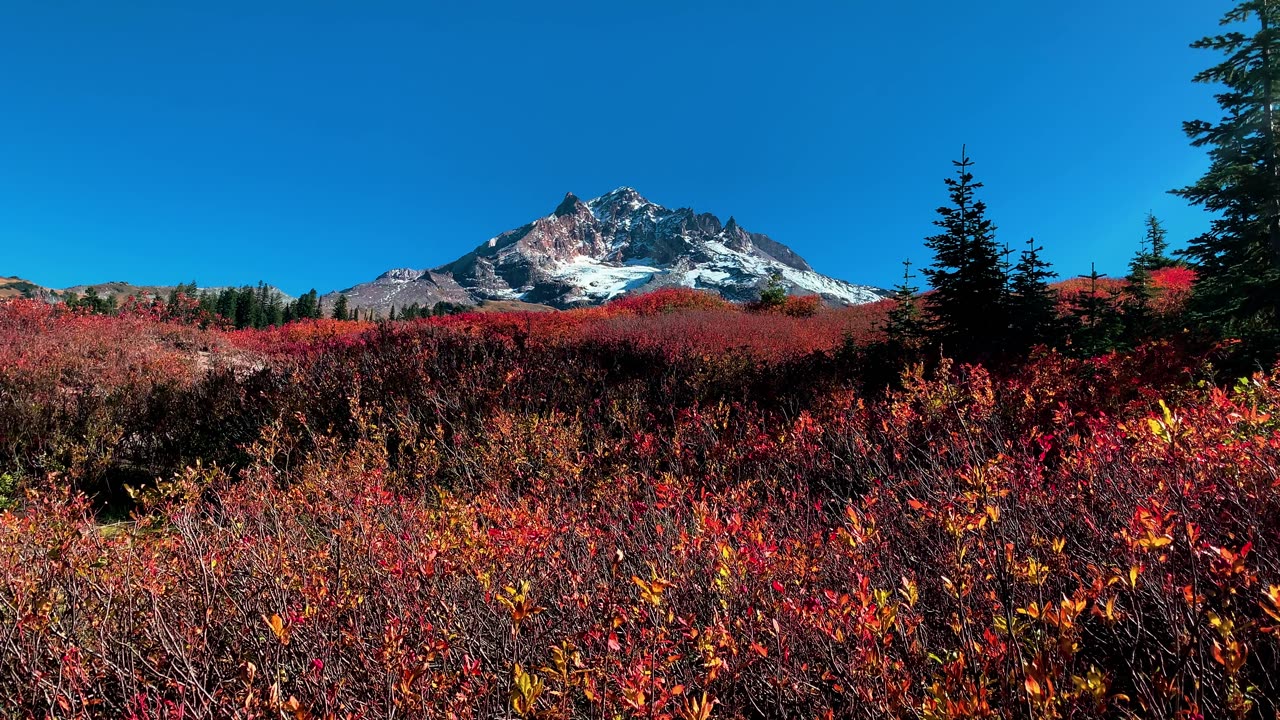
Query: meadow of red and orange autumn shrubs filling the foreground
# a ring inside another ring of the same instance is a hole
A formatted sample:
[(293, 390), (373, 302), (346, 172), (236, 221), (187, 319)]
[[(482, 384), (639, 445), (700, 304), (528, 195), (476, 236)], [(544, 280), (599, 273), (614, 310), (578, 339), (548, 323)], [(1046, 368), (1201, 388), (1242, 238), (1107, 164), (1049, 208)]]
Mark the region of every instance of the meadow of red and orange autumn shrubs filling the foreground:
[(1280, 378), (787, 309), (0, 305), (0, 717), (1280, 714)]

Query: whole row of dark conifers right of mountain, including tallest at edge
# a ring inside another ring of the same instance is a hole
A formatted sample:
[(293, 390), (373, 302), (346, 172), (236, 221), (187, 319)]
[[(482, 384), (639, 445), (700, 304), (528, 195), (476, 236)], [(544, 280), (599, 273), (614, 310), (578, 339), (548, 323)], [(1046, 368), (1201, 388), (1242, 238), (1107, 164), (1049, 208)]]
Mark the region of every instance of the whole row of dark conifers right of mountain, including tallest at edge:
[(1069, 302), (1050, 284), (1055, 272), (1029, 240), (1016, 264), (1002, 256), (978, 197), (973, 160), (961, 150), (947, 178), (948, 204), (940, 208), (938, 233), (927, 238), (933, 261), (923, 275), (932, 292), (919, 296), (910, 265), (895, 291), (884, 324), (897, 355), (924, 348), (982, 360), (1033, 346), (1096, 355), (1174, 328), (1157, 310), (1152, 273), (1176, 265), (1196, 270), (1187, 316), (1201, 337), (1239, 338), (1253, 360), (1280, 355), (1280, 0), (1236, 4), (1222, 18), (1231, 29), (1192, 46), (1224, 59), (1196, 76), (1221, 87), (1217, 122), (1190, 120), (1184, 131), (1206, 147), (1210, 168), (1196, 183), (1171, 192), (1213, 213), (1210, 231), (1174, 258), (1169, 236), (1152, 214), (1125, 283), (1107, 283), (1096, 268)]

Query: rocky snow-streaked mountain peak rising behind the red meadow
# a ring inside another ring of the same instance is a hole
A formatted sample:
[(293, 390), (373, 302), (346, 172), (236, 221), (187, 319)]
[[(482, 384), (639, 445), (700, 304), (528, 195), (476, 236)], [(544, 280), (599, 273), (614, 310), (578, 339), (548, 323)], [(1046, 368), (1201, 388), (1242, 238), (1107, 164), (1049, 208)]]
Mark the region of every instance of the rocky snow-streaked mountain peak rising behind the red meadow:
[[(397, 269), (343, 292), (352, 306), (385, 311), (438, 301), (596, 305), (622, 295), (682, 286), (754, 300), (778, 273), (792, 295), (828, 304), (874, 302), (886, 292), (822, 275), (787, 246), (733, 218), (669, 210), (630, 187), (594, 200), (573, 193), (556, 210), (430, 270)], [(326, 301), (337, 299), (337, 293)]]

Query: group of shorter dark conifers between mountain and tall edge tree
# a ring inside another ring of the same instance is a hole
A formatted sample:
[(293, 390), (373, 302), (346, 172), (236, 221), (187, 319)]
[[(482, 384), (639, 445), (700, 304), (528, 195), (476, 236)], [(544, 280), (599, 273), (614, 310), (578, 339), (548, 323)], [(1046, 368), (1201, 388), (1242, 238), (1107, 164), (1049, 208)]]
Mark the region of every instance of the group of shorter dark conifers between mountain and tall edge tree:
[(1092, 356), (1148, 340), (1161, 327), (1153, 305), (1152, 272), (1183, 263), (1167, 254), (1167, 233), (1148, 214), (1144, 234), (1123, 288), (1105, 290), (1096, 268), (1069, 299), (1051, 284), (1059, 277), (1029, 238), (1016, 252), (996, 241), (996, 224), (978, 197), (974, 161), (965, 149), (946, 178), (950, 202), (938, 208), (938, 233), (925, 238), (933, 263), (923, 275), (925, 296), (913, 284), (906, 261), (902, 283), (884, 322), (888, 346), (899, 360), (937, 350), (961, 360), (993, 361), (1033, 347), (1057, 347)]

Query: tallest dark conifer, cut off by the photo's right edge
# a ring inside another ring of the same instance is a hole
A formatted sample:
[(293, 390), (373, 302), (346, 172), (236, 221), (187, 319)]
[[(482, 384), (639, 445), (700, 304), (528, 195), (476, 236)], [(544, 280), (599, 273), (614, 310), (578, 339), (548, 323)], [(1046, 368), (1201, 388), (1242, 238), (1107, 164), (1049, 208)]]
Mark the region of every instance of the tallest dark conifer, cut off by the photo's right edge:
[(1280, 1), (1239, 3), (1224, 26), (1252, 23), (1253, 33), (1225, 32), (1192, 47), (1222, 53), (1196, 82), (1225, 86), (1216, 95), (1217, 123), (1184, 123), (1192, 145), (1208, 147), (1210, 168), (1175, 191), (1216, 218), (1183, 252), (1197, 270), (1192, 311), (1221, 336), (1253, 341), (1261, 352), (1280, 347)]

